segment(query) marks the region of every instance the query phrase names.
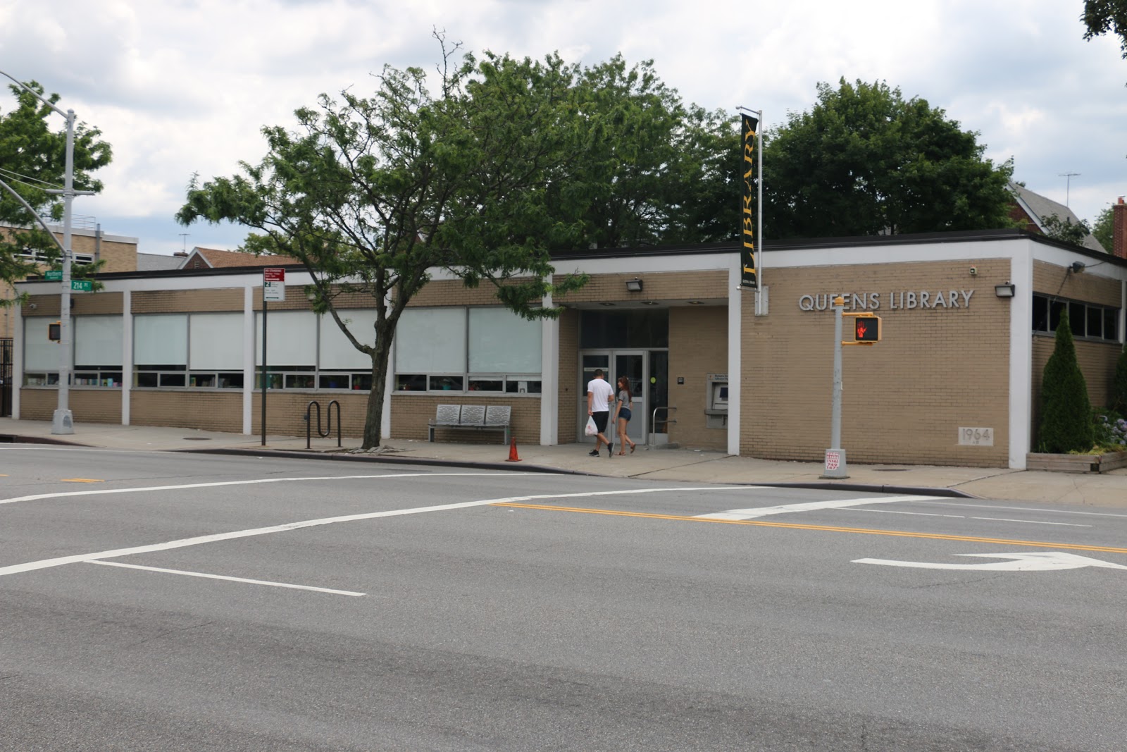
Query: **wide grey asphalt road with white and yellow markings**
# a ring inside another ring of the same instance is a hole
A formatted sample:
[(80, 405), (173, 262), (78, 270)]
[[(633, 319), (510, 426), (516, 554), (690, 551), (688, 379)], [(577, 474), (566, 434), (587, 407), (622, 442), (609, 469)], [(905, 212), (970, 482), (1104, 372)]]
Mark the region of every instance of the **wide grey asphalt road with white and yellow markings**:
[(20, 445), (0, 476), (5, 751), (1127, 740), (1115, 510)]

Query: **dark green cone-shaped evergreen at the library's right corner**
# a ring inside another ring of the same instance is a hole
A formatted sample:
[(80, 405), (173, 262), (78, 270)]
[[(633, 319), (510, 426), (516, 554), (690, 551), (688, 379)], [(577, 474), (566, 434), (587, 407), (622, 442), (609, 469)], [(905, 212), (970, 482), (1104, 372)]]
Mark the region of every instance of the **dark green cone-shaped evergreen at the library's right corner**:
[(1051, 453), (1086, 451), (1093, 441), (1092, 405), (1084, 374), (1076, 362), (1076, 346), (1065, 310), (1057, 324), (1053, 355), (1041, 378), (1038, 448)]

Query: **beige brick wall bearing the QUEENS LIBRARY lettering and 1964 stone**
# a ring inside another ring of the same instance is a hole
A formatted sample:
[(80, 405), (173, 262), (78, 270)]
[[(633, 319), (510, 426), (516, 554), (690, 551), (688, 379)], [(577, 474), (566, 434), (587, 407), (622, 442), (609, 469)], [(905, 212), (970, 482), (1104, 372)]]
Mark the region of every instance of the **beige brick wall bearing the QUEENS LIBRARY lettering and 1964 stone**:
[[(977, 277), (967, 274), (971, 265)], [(997, 259), (771, 269), (771, 315), (743, 309), (740, 453), (822, 461), (831, 434), (834, 319), (832, 311), (801, 311), (798, 301), (878, 292), (884, 340), (842, 353), (849, 461), (1004, 467), (1010, 301), (995, 298), (993, 285), (1009, 273)], [(890, 291), (950, 290), (974, 290), (970, 307), (889, 309)], [(994, 446), (959, 446), (960, 426), (993, 428)]]

